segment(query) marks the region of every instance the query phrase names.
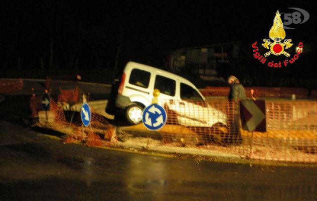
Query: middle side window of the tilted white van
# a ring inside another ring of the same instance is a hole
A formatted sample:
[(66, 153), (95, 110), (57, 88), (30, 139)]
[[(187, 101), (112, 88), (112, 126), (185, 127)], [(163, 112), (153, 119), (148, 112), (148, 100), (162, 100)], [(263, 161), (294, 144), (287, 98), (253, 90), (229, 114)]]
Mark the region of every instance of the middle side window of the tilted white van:
[(166, 95), (175, 95), (176, 81), (161, 75), (156, 75), (154, 88), (160, 90), (161, 93)]

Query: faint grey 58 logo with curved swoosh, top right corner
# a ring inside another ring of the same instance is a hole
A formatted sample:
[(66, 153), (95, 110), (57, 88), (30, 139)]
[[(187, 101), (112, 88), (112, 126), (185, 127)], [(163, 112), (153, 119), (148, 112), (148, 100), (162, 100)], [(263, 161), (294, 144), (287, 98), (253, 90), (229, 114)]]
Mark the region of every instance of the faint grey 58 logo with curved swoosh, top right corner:
[[(287, 26), (291, 24), (295, 24), (295, 25), (303, 24), (309, 19), (308, 12), (303, 9), (299, 9), (299, 8), (288, 8), (288, 9), (293, 9), (296, 11), (293, 13), (284, 13), (284, 15), (281, 15), (284, 17), (283, 27), (281, 27), (283, 29), (295, 29), (295, 28), (291, 28)], [(275, 24), (275, 21), (274, 21), (274, 24)], [(276, 24), (276, 26), (279, 26), (279, 25)]]

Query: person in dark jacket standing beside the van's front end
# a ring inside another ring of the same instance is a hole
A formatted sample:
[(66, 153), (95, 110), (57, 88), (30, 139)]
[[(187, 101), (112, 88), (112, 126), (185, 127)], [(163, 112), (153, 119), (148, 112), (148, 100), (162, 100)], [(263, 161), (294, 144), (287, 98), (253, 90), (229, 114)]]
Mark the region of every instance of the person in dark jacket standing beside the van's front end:
[(228, 94), (228, 141), (230, 144), (242, 143), (242, 137), (240, 134), (240, 107), (239, 102), (235, 100), (245, 99), (245, 89), (239, 82), (238, 78), (230, 75), (228, 78), (228, 84), (230, 85), (230, 92)]

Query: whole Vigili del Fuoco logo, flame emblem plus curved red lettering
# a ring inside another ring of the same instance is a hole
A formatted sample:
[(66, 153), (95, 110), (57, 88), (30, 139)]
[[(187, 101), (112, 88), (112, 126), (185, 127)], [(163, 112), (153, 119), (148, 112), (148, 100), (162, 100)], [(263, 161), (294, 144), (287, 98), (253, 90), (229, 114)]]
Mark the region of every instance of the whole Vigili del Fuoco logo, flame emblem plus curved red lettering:
[(274, 60), (271, 60), (267, 62), (267, 66), (274, 68), (281, 68), (282, 66), (287, 66), (288, 64), (294, 63), (299, 58), (299, 55), (301, 54), (303, 48), (303, 43), (299, 42), (298, 47), (296, 48), (296, 54), (291, 56), (287, 52), (287, 49), (292, 47), (293, 44), (291, 43), (291, 39), (285, 39), (286, 33), (283, 29), (283, 23), (280, 16), (281, 15), (277, 11), (273, 21), (273, 26), (268, 33), (268, 36), (272, 41), (270, 39), (263, 39), (264, 43), (262, 43), (262, 46), (268, 49), (268, 52), (266, 52), (264, 55), (261, 55), (258, 52), (259, 48), (257, 46), (257, 41), (252, 44), (254, 52), (253, 57), (263, 64), (266, 63), (267, 59), (274, 58), (270, 55), (286, 57), (283, 61), (275, 62)]

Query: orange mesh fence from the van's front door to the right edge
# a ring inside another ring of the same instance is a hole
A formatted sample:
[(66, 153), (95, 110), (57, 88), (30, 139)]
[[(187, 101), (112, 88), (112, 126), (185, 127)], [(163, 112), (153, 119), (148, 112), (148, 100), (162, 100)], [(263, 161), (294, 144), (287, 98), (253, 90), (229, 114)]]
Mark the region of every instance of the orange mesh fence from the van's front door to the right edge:
[(168, 114), (160, 132), (179, 142), (260, 160), (317, 162), (317, 102), (266, 101), (266, 132), (242, 129), (239, 102), (161, 100)]

